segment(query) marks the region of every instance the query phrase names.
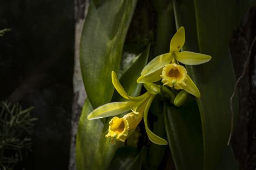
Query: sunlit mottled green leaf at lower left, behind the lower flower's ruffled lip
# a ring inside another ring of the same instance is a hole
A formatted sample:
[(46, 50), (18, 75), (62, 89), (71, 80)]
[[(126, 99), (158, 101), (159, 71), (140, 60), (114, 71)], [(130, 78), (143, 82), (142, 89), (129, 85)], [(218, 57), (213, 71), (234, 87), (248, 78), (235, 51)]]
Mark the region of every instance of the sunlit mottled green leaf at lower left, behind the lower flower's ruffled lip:
[[(79, 120), (76, 143), (76, 166), (83, 169), (105, 169), (122, 142), (106, 138), (109, 125), (100, 119), (88, 120), (87, 115), (93, 110), (89, 100), (85, 100)], [(104, 152), (103, 152), (104, 151)]]

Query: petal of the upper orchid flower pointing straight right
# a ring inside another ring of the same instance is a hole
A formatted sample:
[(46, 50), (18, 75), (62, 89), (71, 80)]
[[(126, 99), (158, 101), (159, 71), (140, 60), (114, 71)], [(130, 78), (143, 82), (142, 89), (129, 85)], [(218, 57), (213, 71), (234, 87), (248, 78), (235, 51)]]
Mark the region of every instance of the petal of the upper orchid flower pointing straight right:
[(183, 51), (175, 53), (175, 59), (185, 65), (200, 65), (212, 59), (210, 55), (194, 53), (190, 51)]

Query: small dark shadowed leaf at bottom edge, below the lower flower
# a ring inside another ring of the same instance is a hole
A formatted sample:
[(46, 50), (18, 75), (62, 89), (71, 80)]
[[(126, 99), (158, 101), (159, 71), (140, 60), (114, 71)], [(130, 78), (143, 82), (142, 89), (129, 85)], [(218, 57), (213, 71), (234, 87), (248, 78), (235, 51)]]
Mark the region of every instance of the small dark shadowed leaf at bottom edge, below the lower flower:
[(120, 147), (114, 155), (109, 169), (141, 169), (146, 154), (147, 150), (145, 146), (140, 150), (140, 152), (134, 147)]

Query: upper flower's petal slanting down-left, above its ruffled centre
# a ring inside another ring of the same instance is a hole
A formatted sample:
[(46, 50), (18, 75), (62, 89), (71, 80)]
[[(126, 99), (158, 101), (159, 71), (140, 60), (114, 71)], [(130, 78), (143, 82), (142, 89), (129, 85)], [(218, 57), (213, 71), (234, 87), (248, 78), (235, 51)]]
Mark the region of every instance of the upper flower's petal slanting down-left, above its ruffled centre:
[(173, 59), (171, 53), (165, 53), (158, 55), (156, 58), (151, 60), (142, 70), (140, 75), (146, 76), (153, 72), (156, 72), (158, 69), (163, 68), (165, 65), (169, 64)]

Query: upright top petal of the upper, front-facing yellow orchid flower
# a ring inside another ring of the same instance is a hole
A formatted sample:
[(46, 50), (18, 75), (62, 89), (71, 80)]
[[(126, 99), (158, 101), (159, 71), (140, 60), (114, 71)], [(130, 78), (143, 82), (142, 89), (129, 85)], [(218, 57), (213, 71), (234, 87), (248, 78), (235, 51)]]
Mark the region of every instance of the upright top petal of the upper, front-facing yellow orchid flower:
[(170, 43), (170, 52), (179, 52), (185, 44), (185, 29), (183, 26), (174, 34)]

